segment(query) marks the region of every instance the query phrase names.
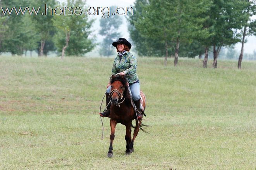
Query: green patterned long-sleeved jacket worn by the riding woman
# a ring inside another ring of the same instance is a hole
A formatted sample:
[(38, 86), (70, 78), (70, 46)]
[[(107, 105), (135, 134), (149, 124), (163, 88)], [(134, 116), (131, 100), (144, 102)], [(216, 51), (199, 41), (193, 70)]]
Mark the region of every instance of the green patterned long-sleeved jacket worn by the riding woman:
[(139, 79), (136, 73), (136, 69), (137, 59), (131, 52), (127, 51), (122, 57), (119, 57), (119, 55), (115, 57), (112, 67), (112, 74), (124, 72), (127, 76), (129, 84), (132, 84)]

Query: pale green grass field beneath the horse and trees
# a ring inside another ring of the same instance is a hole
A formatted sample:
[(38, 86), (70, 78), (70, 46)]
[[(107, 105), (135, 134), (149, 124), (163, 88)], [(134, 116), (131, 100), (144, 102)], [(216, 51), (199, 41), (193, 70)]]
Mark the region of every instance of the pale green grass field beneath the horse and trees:
[[(255, 170), (256, 62), (138, 60), (147, 98), (134, 153), (98, 111), (113, 58), (0, 57), (1, 170)], [(211, 62), (208, 64), (211, 66)]]

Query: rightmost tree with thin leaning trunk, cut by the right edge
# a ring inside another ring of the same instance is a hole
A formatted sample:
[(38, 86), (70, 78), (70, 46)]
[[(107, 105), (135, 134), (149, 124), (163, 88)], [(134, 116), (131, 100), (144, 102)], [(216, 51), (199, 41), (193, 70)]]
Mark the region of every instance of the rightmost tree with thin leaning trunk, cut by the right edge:
[(241, 69), (242, 58), (244, 53), (244, 42), (245, 42), (246, 35), (256, 34), (256, 30), (254, 30), (256, 20), (254, 20), (253, 22), (250, 21), (250, 17), (256, 14), (255, 9), (256, 9), (256, 2), (253, 0), (247, 0), (247, 5), (245, 9), (242, 11), (243, 13), (242, 16), (244, 16), (244, 18), (242, 19), (242, 22), (243, 22), (242, 47), (241, 47), (241, 52), (238, 59), (238, 65), (237, 65), (238, 69)]

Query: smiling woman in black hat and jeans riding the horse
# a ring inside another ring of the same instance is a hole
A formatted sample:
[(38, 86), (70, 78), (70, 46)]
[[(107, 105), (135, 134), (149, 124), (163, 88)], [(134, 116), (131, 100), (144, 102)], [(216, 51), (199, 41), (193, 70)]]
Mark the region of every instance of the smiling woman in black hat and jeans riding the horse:
[[(132, 45), (124, 38), (119, 38), (119, 40), (113, 42), (112, 45), (116, 47), (118, 52), (112, 67), (112, 74), (119, 74), (120, 76), (125, 76), (127, 78), (132, 93), (132, 100), (134, 101), (136, 108), (139, 110), (139, 112), (137, 112), (136, 118), (140, 119), (142, 118), (142, 114), (140, 111), (141, 96), (139, 78), (136, 73), (137, 59), (131, 52), (129, 52)], [(110, 102), (110, 85), (111, 83), (108, 82), (106, 91), (107, 109), (105, 112), (100, 113), (101, 117), (108, 117), (110, 115), (110, 104), (108, 104)]]

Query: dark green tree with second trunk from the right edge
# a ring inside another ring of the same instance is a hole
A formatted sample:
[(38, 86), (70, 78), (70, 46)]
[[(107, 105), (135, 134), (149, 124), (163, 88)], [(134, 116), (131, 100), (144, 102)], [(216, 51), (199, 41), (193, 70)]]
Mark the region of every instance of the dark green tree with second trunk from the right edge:
[(213, 0), (210, 9), (210, 19), (213, 23), (209, 42), (213, 45), (213, 67), (217, 68), (218, 54), (222, 47), (239, 42), (237, 29), (241, 29), (242, 11), (246, 0)]

